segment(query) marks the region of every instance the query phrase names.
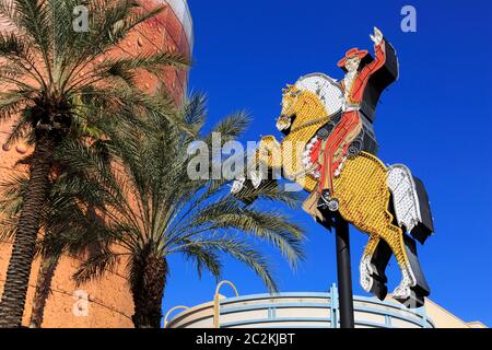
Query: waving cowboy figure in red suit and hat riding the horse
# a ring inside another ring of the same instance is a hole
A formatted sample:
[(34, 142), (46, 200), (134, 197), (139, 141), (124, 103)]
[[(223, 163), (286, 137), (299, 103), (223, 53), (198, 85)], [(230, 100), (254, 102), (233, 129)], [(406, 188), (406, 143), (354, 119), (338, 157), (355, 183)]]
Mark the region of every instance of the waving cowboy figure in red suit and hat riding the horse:
[[(383, 33), (374, 27), (374, 35), (370, 36), (374, 42), (375, 52), (375, 59), (371, 63), (361, 67), (361, 61), (367, 55), (367, 50), (358, 48), (348, 50), (345, 57), (338, 62), (338, 67), (347, 72), (343, 80), (340, 81), (343, 90), (343, 105), (340, 121), (323, 141), (318, 158), (318, 163), (321, 165), (318, 187), (321, 206), (336, 201), (333, 176), (338, 176), (349, 145), (362, 130), (360, 109), (367, 81), (386, 61), (386, 44)], [(331, 208), (331, 206), (329, 207)], [(333, 209), (338, 209), (337, 207)]]

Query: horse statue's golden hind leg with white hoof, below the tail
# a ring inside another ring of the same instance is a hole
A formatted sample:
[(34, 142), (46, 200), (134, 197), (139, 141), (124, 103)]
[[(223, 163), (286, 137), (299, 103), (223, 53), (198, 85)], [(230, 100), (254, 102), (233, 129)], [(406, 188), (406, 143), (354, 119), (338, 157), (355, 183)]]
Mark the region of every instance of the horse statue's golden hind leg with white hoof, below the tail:
[(383, 238), (391, 248), (402, 276), (400, 284), (393, 292), (393, 296), (408, 307), (422, 306), (423, 298), (429, 295), (429, 287), (417, 259), (414, 241), (405, 235), (400, 228), (393, 224), (388, 225)]

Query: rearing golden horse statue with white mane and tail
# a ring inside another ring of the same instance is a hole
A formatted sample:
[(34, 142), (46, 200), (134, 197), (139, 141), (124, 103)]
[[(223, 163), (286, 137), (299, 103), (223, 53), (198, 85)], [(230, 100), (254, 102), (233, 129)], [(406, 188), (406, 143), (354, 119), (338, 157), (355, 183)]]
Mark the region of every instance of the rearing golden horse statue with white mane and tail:
[[(389, 44), (386, 45), (394, 54)], [(373, 100), (368, 100), (372, 106), (377, 104), (378, 93), (396, 79), (396, 59), (387, 60), (385, 69), (375, 82), (368, 82), (373, 84), (370, 86)], [(391, 71), (395, 73), (389, 74)], [(282, 114), (277, 121), (284, 138), (278, 141), (274, 136), (263, 137), (256, 158), (269, 171), (280, 171), (284, 178), (295, 182), (309, 194), (303, 209), (319, 223), (330, 229), (331, 220), (339, 214), (368, 234), (360, 262), (360, 283), (365, 291), (380, 300), (386, 298), (385, 270), (393, 254), (402, 276), (393, 298), (408, 307), (419, 307), (430, 294), (414, 241), (423, 244), (433, 232), (427, 195), (422, 182), (407, 166), (386, 166), (374, 154), (376, 147), (368, 118), (335, 172), (336, 202), (319, 206), (323, 164), (313, 156), (313, 149), (340, 122), (343, 102), (343, 89), (323, 73), (302, 77), (294, 85), (288, 85), (283, 90)], [(247, 180), (245, 177), (236, 180), (232, 191), (244, 190), (246, 185), (258, 187), (265, 180), (265, 174), (250, 170)]]

